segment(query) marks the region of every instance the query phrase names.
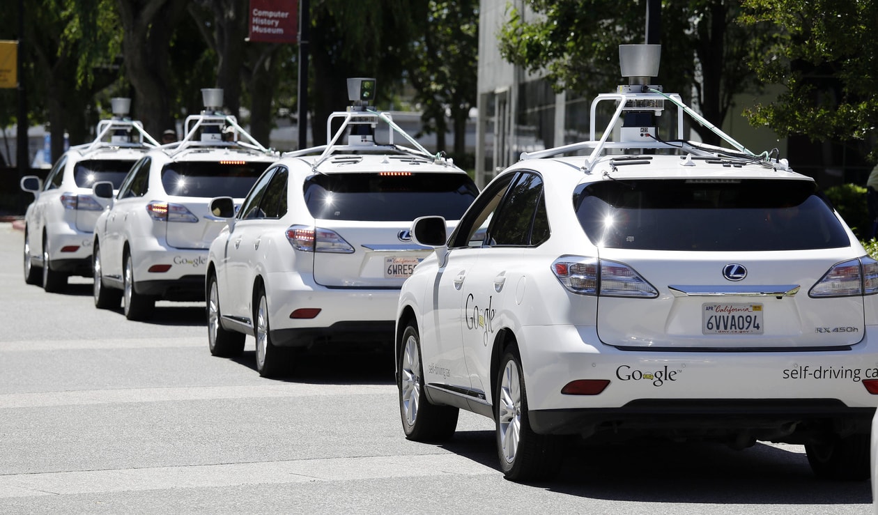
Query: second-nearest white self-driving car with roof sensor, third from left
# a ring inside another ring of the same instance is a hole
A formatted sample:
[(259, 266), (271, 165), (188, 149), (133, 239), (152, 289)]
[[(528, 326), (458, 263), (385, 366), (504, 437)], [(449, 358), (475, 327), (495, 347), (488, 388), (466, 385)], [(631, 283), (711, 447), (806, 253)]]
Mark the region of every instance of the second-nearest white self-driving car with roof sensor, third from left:
[[(272, 164), (210, 247), (211, 353), (241, 354), (254, 335), (262, 376), (308, 347), (392, 348), (399, 287), (430, 252), (411, 241), (411, 220), (453, 225), (478, 194), (463, 170), (368, 109), (373, 79), (351, 81), (357, 105), (329, 118), (329, 144)], [(414, 148), (394, 144), (394, 132)], [(212, 205), (230, 215), (230, 204)]]

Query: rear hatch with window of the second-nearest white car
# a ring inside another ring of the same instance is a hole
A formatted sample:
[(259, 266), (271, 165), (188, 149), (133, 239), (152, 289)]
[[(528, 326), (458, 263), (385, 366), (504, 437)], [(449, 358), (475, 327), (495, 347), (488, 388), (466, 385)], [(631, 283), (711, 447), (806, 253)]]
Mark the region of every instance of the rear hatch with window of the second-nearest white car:
[(315, 252), (314, 280), (329, 287), (399, 288), (428, 254), (411, 240), (414, 218), (440, 215), (453, 226), (476, 195), (475, 183), (457, 172), (313, 175), (305, 201), (318, 240), (322, 233), (339, 242), (337, 252)]

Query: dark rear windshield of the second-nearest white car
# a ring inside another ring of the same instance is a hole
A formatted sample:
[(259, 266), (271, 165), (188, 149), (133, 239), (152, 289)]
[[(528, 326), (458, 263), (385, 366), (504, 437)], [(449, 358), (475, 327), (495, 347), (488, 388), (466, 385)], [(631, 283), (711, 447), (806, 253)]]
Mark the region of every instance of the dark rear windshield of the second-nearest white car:
[(457, 220), (478, 194), (468, 175), (452, 173), (314, 175), (305, 183), (311, 215), (330, 220)]

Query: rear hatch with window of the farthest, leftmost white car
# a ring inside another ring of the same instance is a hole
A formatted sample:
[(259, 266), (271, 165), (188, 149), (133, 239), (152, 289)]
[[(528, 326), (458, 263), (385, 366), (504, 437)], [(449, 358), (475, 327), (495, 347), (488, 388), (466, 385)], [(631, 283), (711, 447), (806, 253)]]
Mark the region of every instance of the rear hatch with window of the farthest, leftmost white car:
[(119, 184), (125, 179), (128, 170), (137, 161), (139, 155), (131, 159), (89, 159), (76, 163), (73, 178), (76, 182), (78, 200), (76, 207), (76, 229), (93, 232), (97, 217), (110, 204), (109, 198), (93, 195), (91, 188), (95, 182), (112, 182), (113, 190), (119, 190)]

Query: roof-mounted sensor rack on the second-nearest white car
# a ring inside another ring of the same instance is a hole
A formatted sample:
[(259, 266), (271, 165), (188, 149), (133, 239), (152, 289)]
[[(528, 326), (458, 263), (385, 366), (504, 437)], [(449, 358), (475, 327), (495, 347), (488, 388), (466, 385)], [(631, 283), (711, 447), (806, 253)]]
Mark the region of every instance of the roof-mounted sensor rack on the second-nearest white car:
[[(370, 101), (375, 97), (375, 79), (372, 78), (353, 78), (348, 79), (348, 98), (353, 105), (348, 107), (348, 111), (336, 111), (329, 115), (327, 119), (327, 141), (326, 145), (317, 147), (303, 148), (292, 152), (285, 152), (284, 157), (301, 157), (311, 154), (320, 154), (316, 161), (313, 162), (311, 168), (316, 170), (321, 163), (327, 161), (333, 154), (409, 154), (418, 156), (436, 164), (451, 166), (454, 162), (445, 157), (444, 153), (430, 154), (429, 151), (418, 143), (399, 125), (393, 122), (393, 118), (389, 112), (379, 112), (370, 109)], [(342, 126), (333, 133), (333, 121), (341, 119)], [(386, 126), (386, 143), (378, 144), (375, 141), (375, 131), (378, 125)], [(346, 143), (340, 143), (347, 133)], [(394, 133), (399, 134), (412, 147), (403, 147), (393, 142)]]

